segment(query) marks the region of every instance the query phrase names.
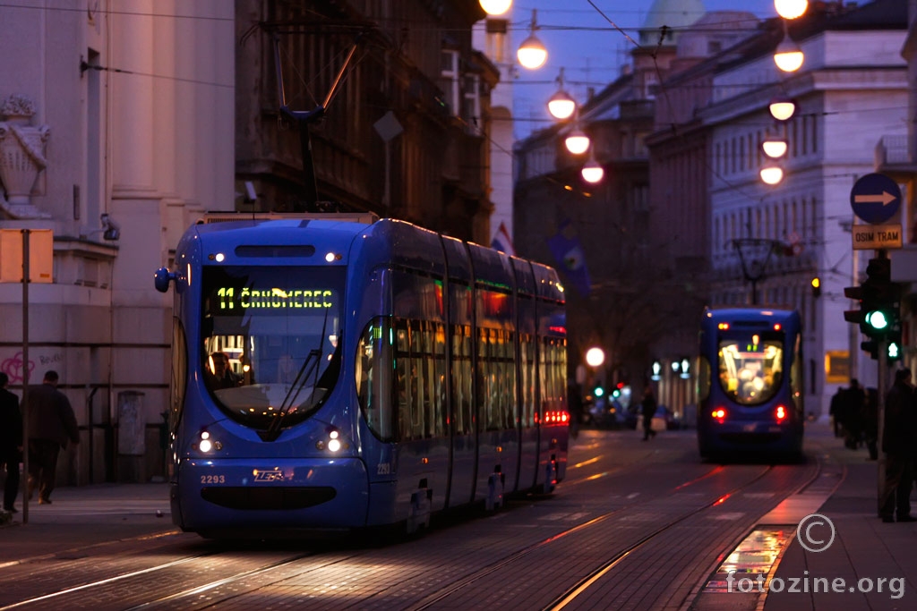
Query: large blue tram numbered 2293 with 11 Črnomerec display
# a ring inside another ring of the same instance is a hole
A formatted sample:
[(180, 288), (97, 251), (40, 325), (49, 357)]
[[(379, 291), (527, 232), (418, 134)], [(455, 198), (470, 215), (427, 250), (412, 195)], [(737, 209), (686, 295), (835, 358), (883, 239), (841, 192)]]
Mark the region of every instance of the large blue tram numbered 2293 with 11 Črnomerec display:
[(554, 490), (569, 425), (554, 269), (371, 214), (242, 218), (194, 224), (156, 272), (175, 293), (176, 525), (414, 532)]

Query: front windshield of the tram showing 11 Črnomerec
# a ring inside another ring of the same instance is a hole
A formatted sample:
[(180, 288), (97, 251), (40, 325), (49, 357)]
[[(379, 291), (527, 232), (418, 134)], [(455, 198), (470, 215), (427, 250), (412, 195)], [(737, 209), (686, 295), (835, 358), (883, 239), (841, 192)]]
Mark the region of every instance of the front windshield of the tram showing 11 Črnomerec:
[(202, 285), (200, 358), (216, 405), (260, 430), (308, 418), (340, 371), (344, 269), (207, 266)]

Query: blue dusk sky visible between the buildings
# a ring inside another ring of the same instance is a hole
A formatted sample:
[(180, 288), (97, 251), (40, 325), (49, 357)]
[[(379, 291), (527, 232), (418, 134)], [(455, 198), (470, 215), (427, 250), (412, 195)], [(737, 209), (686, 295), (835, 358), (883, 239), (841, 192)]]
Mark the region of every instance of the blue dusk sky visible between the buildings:
[[(589, 87), (600, 91), (613, 82), (621, 66), (629, 63), (629, 52), (635, 47), (624, 34), (637, 40), (637, 28), (646, 23), (652, 5), (653, 0), (592, 0), (592, 4), (589, 0), (514, 1), (514, 49), (528, 36), (532, 9), (537, 10), (536, 36), (547, 47), (544, 66), (536, 71), (519, 69), (514, 83), (515, 136), (525, 137), (550, 125), (546, 104), (558, 89), (561, 67), (565, 89), (580, 102), (586, 99)], [(743, 10), (759, 18), (777, 15), (773, 0), (703, 0), (703, 5), (708, 11)]]

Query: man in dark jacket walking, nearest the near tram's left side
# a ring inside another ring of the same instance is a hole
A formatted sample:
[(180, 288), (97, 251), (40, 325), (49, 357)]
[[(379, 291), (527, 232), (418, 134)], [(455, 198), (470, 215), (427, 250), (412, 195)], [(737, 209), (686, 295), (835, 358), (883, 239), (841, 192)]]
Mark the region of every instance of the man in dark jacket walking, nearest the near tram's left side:
[(79, 443), (80, 431), (70, 400), (57, 389), (58, 373), (49, 371), (44, 383), (28, 387), (28, 496), (39, 486), (39, 505), (50, 504), (57, 475), (57, 458), (67, 442)]

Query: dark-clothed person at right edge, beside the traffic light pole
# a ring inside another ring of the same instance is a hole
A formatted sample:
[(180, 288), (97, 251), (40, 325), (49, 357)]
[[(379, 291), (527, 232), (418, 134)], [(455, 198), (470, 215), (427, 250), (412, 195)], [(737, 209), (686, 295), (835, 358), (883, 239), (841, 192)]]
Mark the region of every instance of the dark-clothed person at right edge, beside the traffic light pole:
[(911, 517), (911, 465), (913, 444), (917, 440), (917, 414), (914, 413), (911, 370), (895, 372), (895, 382), (885, 395), (885, 422), (882, 452), (885, 453), (885, 487), (880, 513), (883, 522), (913, 522)]

